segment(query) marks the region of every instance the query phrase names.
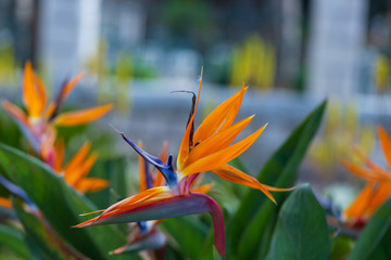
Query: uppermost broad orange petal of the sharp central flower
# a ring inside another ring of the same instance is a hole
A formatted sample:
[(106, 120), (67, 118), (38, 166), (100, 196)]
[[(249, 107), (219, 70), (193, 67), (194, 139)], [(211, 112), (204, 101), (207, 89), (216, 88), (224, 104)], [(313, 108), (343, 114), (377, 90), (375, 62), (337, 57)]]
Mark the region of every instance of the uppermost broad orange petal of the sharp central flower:
[(241, 90), (218, 105), (200, 125), (194, 133), (194, 143), (202, 142), (222, 128), (222, 125), (230, 126), (235, 120), (243, 95), (248, 88)]

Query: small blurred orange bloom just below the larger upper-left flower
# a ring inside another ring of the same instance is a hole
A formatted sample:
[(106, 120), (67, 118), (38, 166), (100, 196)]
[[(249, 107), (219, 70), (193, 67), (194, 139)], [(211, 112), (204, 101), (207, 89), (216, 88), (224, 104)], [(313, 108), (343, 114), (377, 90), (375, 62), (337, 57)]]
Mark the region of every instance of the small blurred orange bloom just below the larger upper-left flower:
[(97, 153), (92, 153), (88, 156), (91, 148), (90, 143), (85, 143), (76, 155), (68, 161), (68, 164), (62, 167), (64, 161), (64, 144), (58, 142), (54, 145), (55, 156), (53, 170), (64, 177), (65, 182), (74, 187), (79, 193), (98, 192), (109, 186), (109, 182), (99, 178), (87, 178), (86, 176), (92, 168), (98, 158)]

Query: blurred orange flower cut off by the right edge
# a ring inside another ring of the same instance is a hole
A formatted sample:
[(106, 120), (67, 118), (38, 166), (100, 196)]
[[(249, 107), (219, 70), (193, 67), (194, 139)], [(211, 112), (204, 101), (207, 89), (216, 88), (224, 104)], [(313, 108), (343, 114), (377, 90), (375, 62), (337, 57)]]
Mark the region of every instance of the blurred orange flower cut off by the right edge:
[[(380, 126), (377, 128), (377, 132), (386, 161), (391, 169), (391, 139)], [(342, 212), (342, 218), (348, 224), (360, 227), (368, 221), (391, 195), (391, 172), (376, 165), (358, 152), (358, 150), (355, 152), (364, 162), (365, 168), (345, 160), (342, 160), (342, 166), (358, 178), (366, 180), (367, 184), (353, 203)]]

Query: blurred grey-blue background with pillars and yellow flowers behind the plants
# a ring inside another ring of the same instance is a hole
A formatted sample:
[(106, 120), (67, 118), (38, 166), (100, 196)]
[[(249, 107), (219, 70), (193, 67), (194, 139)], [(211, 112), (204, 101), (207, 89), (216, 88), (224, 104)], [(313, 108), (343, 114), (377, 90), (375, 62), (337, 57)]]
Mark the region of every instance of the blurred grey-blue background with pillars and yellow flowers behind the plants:
[[(171, 92), (197, 91), (203, 67), (198, 123), (242, 82), (239, 117), (256, 114), (245, 133), (269, 123), (242, 156), (253, 174), (327, 98), (301, 172), (324, 187), (356, 181), (340, 166), (354, 160), (353, 146), (384, 165), (375, 128), (391, 133), (390, 32), (389, 0), (1, 0), (0, 95), (21, 104), (27, 60), (52, 95), (84, 70), (66, 104), (115, 110), (68, 133), (75, 150), (87, 136), (103, 157), (135, 158), (111, 122), (152, 154), (168, 141), (175, 155), (191, 95)], [(1, 120), (10, 143), (13, 122), (4, 112)]]

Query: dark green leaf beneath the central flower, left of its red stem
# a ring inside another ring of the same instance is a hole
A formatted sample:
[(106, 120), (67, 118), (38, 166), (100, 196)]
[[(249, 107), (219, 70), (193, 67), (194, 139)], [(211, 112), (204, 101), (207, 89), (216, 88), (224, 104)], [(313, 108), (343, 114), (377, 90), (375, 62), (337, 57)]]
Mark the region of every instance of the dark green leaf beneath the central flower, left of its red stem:
[[(202, 248), (209, 232), (205, 224), (193, 216), (187, 216), (167, 219), (160, 225), (166, 230), (169, 236), (178, 244), (179, 250), (184, 256), (187, 256), (190, 259), (199, 259), (200, 249)], [(213, 240), (210, 246), (212, 251)], [(203, 259), (206, 259), (206, 256)]]

